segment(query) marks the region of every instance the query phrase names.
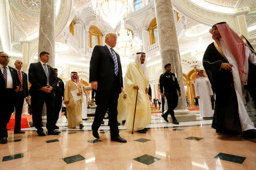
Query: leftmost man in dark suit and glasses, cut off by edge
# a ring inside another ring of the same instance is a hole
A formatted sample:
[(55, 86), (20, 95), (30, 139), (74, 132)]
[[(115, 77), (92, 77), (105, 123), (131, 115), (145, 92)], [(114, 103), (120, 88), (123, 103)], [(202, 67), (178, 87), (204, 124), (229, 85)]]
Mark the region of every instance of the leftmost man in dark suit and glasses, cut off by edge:
[(7, 124), (14, 112), (14, 93), (19, 91), (20, 83), (17, 71), (8, 66), (9, 56), (0, 52), (0, 143), (8, 142)]

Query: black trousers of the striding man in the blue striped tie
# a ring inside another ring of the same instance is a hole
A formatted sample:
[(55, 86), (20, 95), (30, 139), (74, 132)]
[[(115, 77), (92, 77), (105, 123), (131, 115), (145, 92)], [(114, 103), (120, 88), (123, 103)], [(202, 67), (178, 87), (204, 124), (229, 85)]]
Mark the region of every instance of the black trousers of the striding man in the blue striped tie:
[(92, 124), (92, 130), (98, 130), (101, 126), (101, 122), (106, 114), (106, 110), (109, 108), (109, 126), (111, 137), (119, 135), (118, 123), (117, 123), (117, 101), (119, 97), (118, 76), (115, 76), (113, 87), (109, 91), (96, 91), (97, 108)]

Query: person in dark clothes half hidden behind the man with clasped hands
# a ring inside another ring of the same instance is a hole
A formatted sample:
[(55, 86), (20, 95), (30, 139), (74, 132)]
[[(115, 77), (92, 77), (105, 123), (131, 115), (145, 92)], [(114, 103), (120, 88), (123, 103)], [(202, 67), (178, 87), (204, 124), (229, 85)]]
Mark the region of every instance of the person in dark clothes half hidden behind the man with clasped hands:
[(55, 83), (55, 86), (53, 86), (53, 92), (55, 94), (55, 126), (54, 129), (59, 129), (59, 127), (56, 125), (58, 119), (59, 119), (59, 113), (60, 109), (62, 107), (62, 101), (64, 99), (64, 83), (63, 81), (57, 77), (58, 75), (58, 69), (54, 69), (57, 83)]

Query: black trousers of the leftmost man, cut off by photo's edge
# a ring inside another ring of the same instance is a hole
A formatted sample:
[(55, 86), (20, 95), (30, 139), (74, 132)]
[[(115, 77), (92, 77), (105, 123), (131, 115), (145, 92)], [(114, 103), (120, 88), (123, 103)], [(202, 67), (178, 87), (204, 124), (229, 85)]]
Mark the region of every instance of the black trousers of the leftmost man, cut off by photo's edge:
[(0, 139), (8, 138), (7, 124), (10, 121), (11, 113), (14, 112), (14, 90), (5, 89), (2, 91), (0, 97)]

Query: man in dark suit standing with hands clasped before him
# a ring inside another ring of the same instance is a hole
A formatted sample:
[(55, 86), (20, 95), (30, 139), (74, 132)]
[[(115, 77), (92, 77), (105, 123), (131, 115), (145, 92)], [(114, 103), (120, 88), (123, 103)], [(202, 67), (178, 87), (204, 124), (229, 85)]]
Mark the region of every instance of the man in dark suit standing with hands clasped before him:
[(54, 129), (54, 94), (52, 86), (57, 83), (55, 71), (47, 62), (49, 53), (40, 53), (40, 62), (31, 63), (28, 69), (28, 80), (31, 83), (30, 96), (32, 105), (32, 119), (39, 136), (45, 136), (42, 128), (42, 109), (46, 102), (48, 135), (58, 135), (60, 131)]

